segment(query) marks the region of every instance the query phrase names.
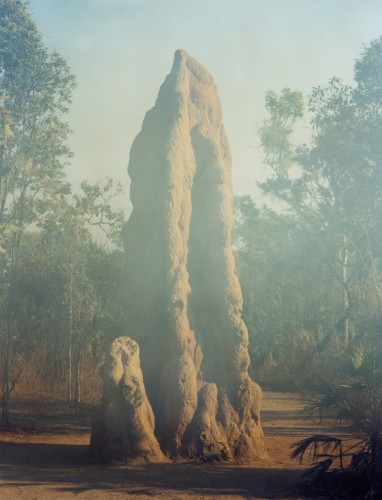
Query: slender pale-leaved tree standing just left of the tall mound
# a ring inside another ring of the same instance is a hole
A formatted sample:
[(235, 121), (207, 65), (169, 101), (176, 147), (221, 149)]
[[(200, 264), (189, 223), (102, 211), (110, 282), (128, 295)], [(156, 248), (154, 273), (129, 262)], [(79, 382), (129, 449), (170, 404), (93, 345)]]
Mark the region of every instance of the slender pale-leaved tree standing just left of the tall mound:
[[(84, 181), (77, 194), (62, 193), (39, 203), (46, 205), (41, 208), (43, 215), (38, 222), (42, 230), (41, 243), (45, 251), (52, 254), (54, 266), (61, 273), (59, 302), (65, 306), (67, 320), (60, 349), (62, 351), (64, 345), (67, 352), (67, 399), (74, 400), (76, 408), (80, 396), (81, 357), (97, 334), (96, 320), (102, 314), (102, 284), (94, 276), (94, 261), (99, 258), (98, 262), (104, 262), (104, 255), (110, 253), (94, 243), (91, 229), (102, 230), (106, 241), (114, 247), (125, 219), (122, 210), (114, 209), (112, 202), (122, 192), (123, 187), (112, 179), (96, 184)], [(122, 269), (118, 273), (121, 276)], [(117, 287), (117, 283), (114, 286)]]

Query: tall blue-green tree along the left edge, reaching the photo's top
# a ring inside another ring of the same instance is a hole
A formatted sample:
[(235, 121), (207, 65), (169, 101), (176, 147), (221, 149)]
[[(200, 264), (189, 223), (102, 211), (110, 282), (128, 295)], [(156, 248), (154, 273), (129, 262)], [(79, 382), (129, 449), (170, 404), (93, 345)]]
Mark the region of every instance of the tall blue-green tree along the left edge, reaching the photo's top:
[(6, 316), (3, 423), (10, 422), (10, 373), (16, 282), (23, 232), (36, 221), (37, 200), (67, 190), (63, 167), (74, 77), (48, 52), (24, 0), (0, 1), (0, 241)]

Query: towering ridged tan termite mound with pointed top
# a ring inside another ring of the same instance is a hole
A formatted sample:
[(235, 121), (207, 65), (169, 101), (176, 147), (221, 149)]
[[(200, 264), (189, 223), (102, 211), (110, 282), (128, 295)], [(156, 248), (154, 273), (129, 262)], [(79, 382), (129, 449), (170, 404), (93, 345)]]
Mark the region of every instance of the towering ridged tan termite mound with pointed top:
[(231, 248), (231, 156), (211, 75), (175, 53), (134, 140), (124, 229), (129, 334), (170, 456), (264, 455)]

